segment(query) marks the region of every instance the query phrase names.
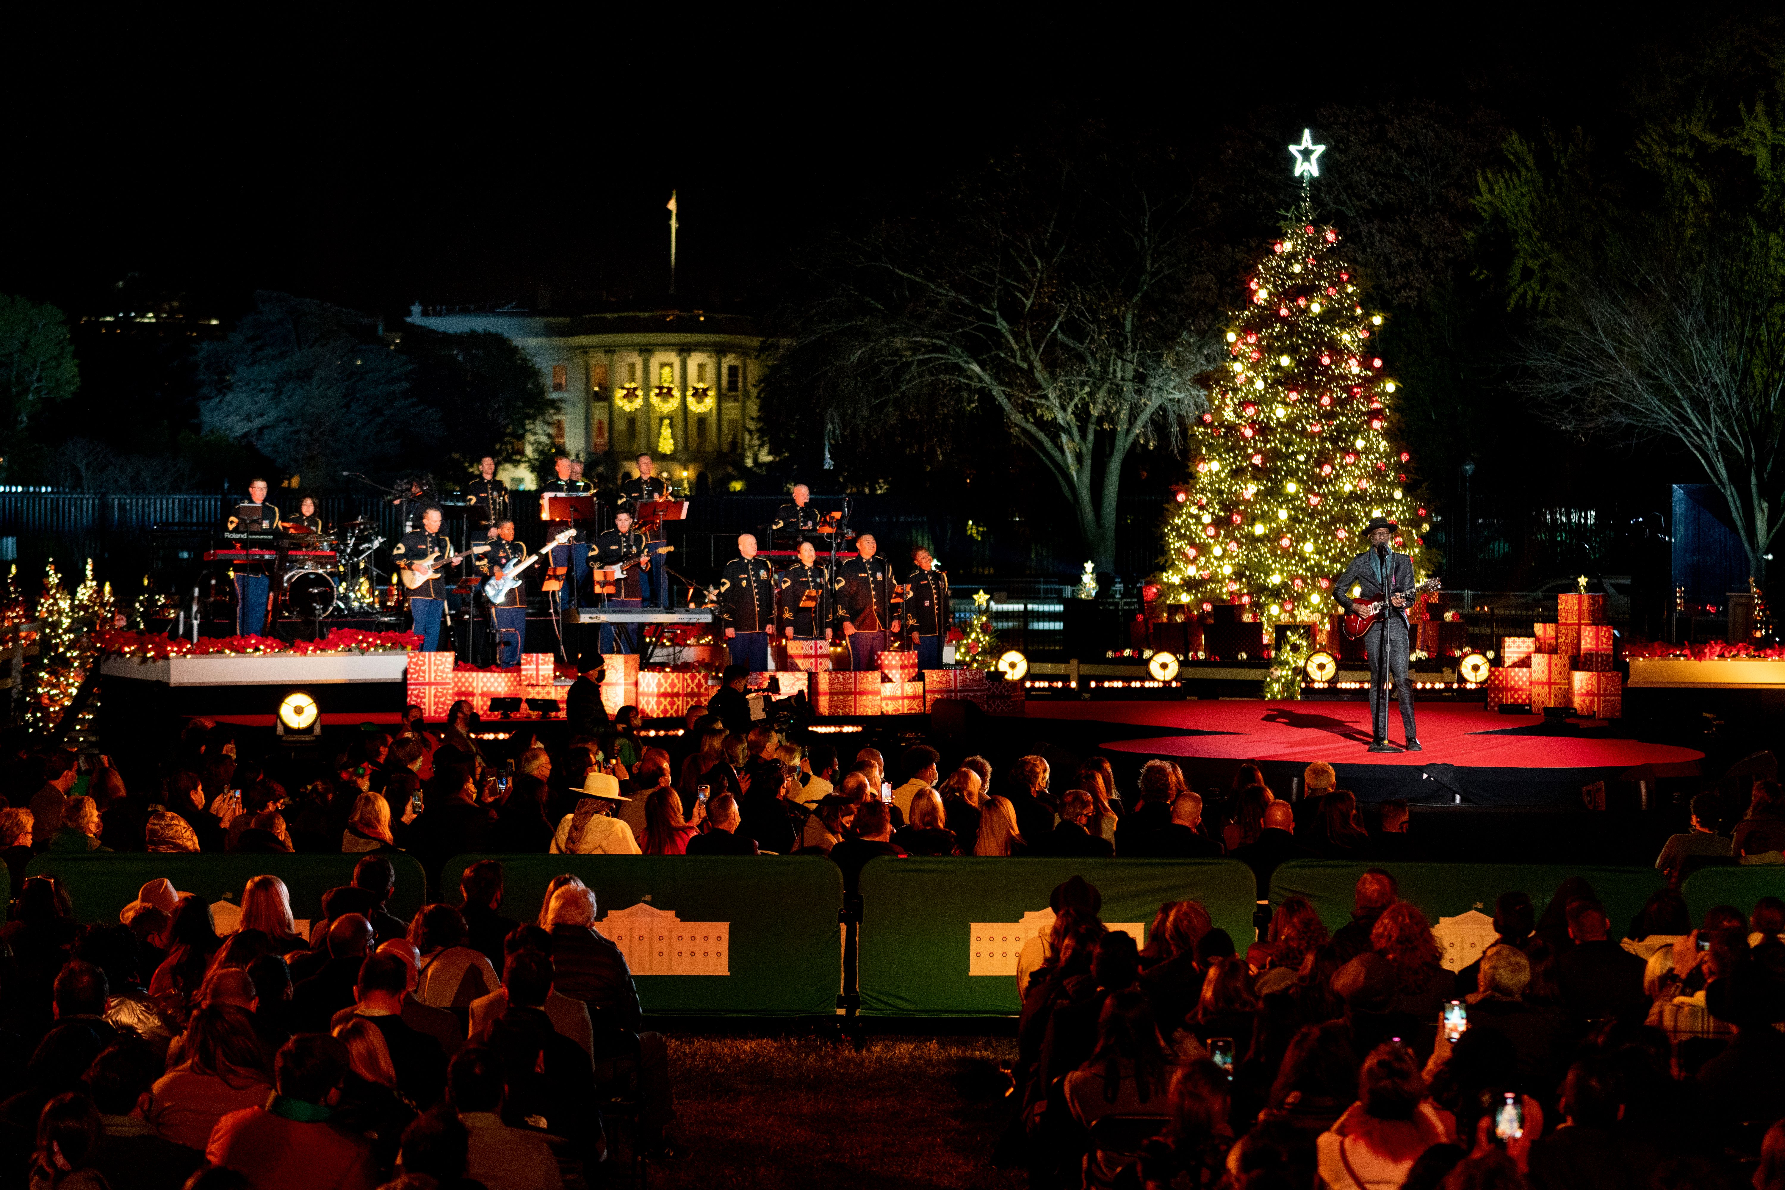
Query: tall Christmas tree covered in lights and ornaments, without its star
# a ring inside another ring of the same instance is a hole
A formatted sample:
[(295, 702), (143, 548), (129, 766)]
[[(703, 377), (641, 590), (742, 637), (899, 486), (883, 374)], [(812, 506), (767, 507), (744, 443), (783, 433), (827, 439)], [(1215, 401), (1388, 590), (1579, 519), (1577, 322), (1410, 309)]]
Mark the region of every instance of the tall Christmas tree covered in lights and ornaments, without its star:
[(1374, 516), (1419, 564), (1424, 508), (1407, 494), (1410, 455), (1383, 426), (1392, 380), (1373, 343), (1339, 232), (1303, 207), (1248, 280), (1228, 330), (1232, 362), (1192, 426), (1194, 473), (1166, 517), (1166, 603), (1239, 603), (1264, 624), (1332, 616), (1332, 578), (1364, 548)]

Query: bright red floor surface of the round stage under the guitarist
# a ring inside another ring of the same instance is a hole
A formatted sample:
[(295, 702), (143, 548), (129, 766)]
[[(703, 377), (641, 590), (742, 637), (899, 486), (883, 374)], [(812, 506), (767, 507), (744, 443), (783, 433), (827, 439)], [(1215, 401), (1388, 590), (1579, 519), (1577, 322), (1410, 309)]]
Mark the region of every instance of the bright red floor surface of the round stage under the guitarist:
[[(1642, 740), (1582, 739), (1571, 735), (1508, 735), (1533, 728), (1542, 715), (1503, 715), (1476, 707), (1421, 703), (1417, 753), (1371, 753), (1369, 703), (1266, 703), (1208, 699), (1183, 703), (1067, 703), (1030, 699), (1030, 719), (1091, 719), (1128, 726), (1158, 726), (1210, 735), (1160, 735), (1110, 740), (1110, 751), (1207, 760), (1312, 760), (1351, 765), (1449, 764), (1460, 769), (1623, 769), (1635, 765), (1696, 765), (1705, 753)], [(1389, 712), (1391, 742), (1399, 742), (1399, 710)], [(1694, 769), (1696, 771), (1696, 769)]]

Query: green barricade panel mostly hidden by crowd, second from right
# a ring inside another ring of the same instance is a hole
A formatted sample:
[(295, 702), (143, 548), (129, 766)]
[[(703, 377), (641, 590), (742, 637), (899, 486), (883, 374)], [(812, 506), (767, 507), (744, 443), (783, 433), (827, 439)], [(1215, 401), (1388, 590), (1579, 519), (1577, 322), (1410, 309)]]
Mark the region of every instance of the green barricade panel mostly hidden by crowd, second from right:
[[(1469, 910), (1494, 915), (1501, 892), (1526, 892), (1540, 919), (1557, 885), (1582, 876), (1592, 885), (1612, 930), (1630, 928), (1630, 919), (1649, 896), (1667, 883), (1653, 867), (1565, 867), (1562, 864), (1358, 864), (1355, 860), (1291, 860), (1271, 874), (1271, 905), (1283, 897), (1307, 897), (1328, 930), (1351, 921), (1357, 878), (1380, 867), (1394, 874), (1403, 901), (1417, 905), (1433, 926), (1439, 917), (1458, 917)], [(1615, 937), (1623, 937), (1615, 933)]]

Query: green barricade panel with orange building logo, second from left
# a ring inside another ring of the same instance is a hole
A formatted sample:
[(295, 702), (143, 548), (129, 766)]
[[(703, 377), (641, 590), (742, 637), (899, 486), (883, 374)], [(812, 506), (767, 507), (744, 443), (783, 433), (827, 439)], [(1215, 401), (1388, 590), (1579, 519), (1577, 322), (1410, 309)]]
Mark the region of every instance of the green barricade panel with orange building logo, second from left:
[(477, 860), (502, 862), (502, 913), (516, 921), (537, 921), (553, 876), (589, 885), (644, 1012), (837, 1012), (843, 872), (825, 856), (461, 855), (441, 885), (457, 888)]

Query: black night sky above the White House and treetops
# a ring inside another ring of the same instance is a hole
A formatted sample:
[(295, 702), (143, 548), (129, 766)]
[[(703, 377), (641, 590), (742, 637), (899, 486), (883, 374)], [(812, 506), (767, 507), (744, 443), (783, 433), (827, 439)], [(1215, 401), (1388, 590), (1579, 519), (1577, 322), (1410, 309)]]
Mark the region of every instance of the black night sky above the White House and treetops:
[(1198, 146), (1269, 111), (1287, 143), (1298, 111), (1385, 96), (1605, 123), (1673, 36), (1630, 9), (1471, 27), (1430, 5), (1417, 25), (1282, 11), (16, 29), (0, 289), (73, 312), (107, 309), (125, 277), (223, 314), (262, 287), (387, 314), (659, 300), (675, 187), (684, 300), (750, 309), (803, 236), (1051, 125)]

